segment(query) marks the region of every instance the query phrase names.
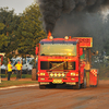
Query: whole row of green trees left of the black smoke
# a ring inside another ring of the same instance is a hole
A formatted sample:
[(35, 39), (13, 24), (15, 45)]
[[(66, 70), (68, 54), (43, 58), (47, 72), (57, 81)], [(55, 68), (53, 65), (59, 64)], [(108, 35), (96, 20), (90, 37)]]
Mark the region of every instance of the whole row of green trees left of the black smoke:
[(41, 26), (38, 4), (27, 7), (23, 13), (16, 15), (14, 9), (0, 8), (0, 52), (7, 58), (15, 56), (35, 56), (35, 47), (46, 33)]

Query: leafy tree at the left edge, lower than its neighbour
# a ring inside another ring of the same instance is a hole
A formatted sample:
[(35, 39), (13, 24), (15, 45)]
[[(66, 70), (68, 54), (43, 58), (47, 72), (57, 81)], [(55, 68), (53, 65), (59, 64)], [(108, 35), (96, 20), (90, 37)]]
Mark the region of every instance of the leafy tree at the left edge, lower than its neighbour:
[(9, 11), (9, 8), (0, 9), (0, 52), (5, 52), (7, 57), (10, 57), (10, 52), (17, 48), (14, 35), (17, 24), (19, 16), (14, 14), (14, 10)]

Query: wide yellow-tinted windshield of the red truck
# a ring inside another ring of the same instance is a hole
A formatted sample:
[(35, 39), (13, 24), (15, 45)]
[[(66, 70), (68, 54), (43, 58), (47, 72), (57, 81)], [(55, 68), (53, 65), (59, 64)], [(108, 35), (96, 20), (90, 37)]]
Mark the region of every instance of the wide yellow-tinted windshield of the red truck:
[(44, 44), (40, 45), (40, 56), (76, 56), (76, 45)]

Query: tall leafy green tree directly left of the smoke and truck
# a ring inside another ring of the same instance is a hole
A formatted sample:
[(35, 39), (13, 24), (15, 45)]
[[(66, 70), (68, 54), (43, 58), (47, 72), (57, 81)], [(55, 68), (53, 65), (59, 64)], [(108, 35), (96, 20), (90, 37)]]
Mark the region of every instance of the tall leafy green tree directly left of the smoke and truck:
[(26, 8), (20, 19), (21, 23), (16, 36), (19, 40), (17, 50), (22, 56), (35, 55), (36, 44), (46, 36), (39, 21), (40, 16), (39, 8), (35, 3)]

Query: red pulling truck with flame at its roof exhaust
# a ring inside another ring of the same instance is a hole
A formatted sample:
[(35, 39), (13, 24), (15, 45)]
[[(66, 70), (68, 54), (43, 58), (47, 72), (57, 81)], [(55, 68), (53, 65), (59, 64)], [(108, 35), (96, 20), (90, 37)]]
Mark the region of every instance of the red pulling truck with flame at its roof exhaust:
[[(81, 56), (84, 48), (92, 48), (92, 37), (53, 38), (49, 33), (47, 39), (41, 39), (36, 47), (39, 88), (56, 87), (58, 84), (71, 85), (74, 89), (85, 88), (89, 77), (86, 77), (86, 60)], [(96, 86), (95, 78), (92, 77), (92, 81), (94, 83), (88, 83)]]

